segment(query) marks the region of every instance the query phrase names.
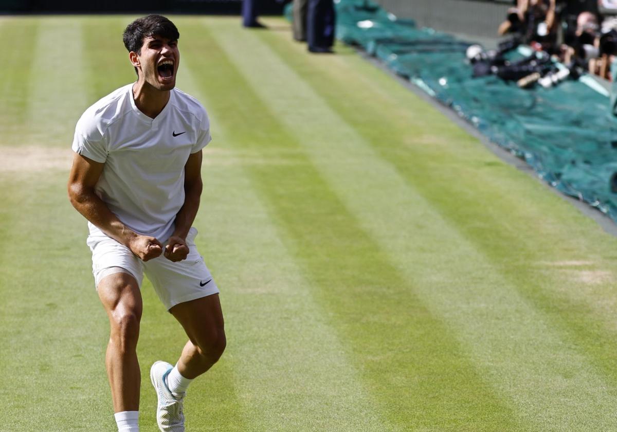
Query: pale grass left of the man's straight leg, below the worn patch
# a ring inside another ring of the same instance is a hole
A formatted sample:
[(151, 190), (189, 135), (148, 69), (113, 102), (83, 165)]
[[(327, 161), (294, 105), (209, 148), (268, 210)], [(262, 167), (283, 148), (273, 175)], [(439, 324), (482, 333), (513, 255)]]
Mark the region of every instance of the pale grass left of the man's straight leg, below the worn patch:
[[(44, 180), (41, 180), (44, 178)], [(86, 226), (65, 172), (0, 176), (14, 217), (0, 226), (0, 386), (7, 431), (112, 431), (104, 367), (106, 317), (94, 291)], [(27, 239), (27, 246), (24, 245)], [(17, 413), (24, 413), (18, 415)]]

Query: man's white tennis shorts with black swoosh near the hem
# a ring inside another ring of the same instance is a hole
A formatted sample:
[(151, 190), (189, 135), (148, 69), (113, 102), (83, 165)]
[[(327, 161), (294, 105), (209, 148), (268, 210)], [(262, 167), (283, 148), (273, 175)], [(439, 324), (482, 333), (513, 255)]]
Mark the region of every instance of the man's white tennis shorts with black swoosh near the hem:
[(144, 262), (128, 247), (106, 235), (88, 236), (87, 243), (92, 251), (92, 272), (96, 285), (103, 276), (116, 273), (113, 270), (106, 272), (106, 269), (120, 267), (135, 278), (139, 288), (146, 273), (167, 310), (178, 303), (217, 294), (217, 284), (212, 280), (204, 259), (197, 252), (195, 236), (197, 229), (192, 227), (186, 236), (188, 257), (178, 262), (172, 262), (163, 255)]

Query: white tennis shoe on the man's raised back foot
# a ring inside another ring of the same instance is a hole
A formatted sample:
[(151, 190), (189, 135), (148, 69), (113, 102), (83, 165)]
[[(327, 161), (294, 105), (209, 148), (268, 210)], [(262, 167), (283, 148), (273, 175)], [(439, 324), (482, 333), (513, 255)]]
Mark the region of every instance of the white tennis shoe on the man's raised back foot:
[(154, 362), (150, 368), (150, 380), (159, 399), (156, 422), (162, 432), (184, 432), (184, 413), (182, 412), (184, 394), (177, 398), (167, 386), (167, 375), (172, 372), (172, 369), (172, 365), (160, 361)]

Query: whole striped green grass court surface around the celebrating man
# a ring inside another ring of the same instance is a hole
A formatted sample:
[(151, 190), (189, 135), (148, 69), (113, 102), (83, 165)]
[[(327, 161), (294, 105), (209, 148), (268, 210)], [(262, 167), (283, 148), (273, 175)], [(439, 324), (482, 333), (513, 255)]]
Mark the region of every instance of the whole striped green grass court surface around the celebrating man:
[[(2, 431), (115, 430), (65, 182), (81, 112), (135, 79), (133, 18), (0, 17)], [(350, 48), (172, 19), (212, 120), (195, 225), (228, 334), (189, 431), (617, 430), (615, 238)], [(149, 366), (184, 335), (142, 292), (155, 431)]]

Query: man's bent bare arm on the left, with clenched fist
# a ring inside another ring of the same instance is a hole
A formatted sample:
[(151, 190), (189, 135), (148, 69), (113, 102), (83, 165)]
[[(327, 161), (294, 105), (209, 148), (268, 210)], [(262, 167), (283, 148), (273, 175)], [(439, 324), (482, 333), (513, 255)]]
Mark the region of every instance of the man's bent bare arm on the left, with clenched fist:
[(73, 154), (73, 167), (68, 177), (71, 204), (107, 236), (131, 249), (140, 259), (147, 261), (158, 257), (163, 250), (162, 244), (154, 237), (139, 235), (124, 225), (94, 192), (104, 166), (78, 153)]

